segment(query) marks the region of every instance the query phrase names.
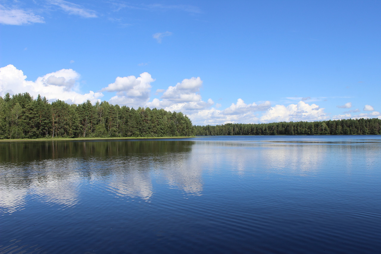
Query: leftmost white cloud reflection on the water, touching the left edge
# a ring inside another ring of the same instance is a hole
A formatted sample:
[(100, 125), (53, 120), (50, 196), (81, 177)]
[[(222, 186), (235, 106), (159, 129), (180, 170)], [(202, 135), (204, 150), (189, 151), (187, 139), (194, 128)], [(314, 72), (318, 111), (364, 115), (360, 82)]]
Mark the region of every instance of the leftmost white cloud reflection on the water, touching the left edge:
[(2, 167), (0, 206), (8, 212), (21, 209), (26, 196), (38, 194), (49, 201), (72, 206), (77, 202), (80, 176), (74, 159), (32, 161), (23, 166)]

